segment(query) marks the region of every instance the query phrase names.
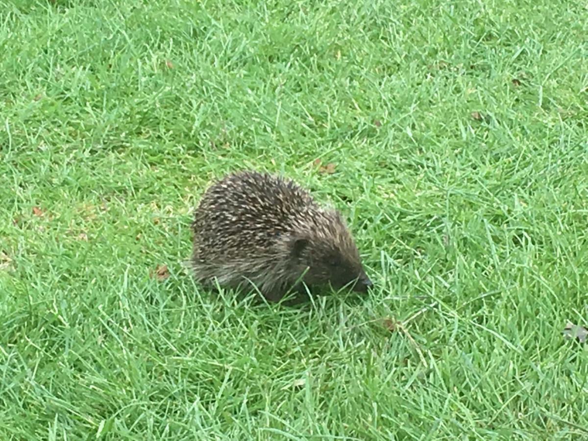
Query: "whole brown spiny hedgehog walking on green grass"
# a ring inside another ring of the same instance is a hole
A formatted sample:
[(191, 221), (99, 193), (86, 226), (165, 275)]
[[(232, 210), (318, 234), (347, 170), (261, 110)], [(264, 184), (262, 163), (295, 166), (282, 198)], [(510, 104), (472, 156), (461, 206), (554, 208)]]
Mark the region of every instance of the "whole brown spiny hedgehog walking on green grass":
[(195, 210), (192, 230), (195, 277), (210, 288), (252, 284), (279, 302), (291, 291), (298, 301), (308, 298), (305, 285), (308, 292), (372, 287), (340, 213), (280, 176), (240, 171), (216, 181)]

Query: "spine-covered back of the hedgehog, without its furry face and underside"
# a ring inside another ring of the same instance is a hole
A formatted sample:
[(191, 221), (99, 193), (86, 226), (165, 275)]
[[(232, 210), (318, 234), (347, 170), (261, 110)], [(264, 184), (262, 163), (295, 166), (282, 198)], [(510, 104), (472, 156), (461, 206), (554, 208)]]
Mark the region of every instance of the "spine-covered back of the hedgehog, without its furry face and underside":
[(241, 172), (215, 183), (196, 209), (193, 229), (199, 260), (235, 260), (276, 252), (273, 243), (318, 209), (292, 181)]

